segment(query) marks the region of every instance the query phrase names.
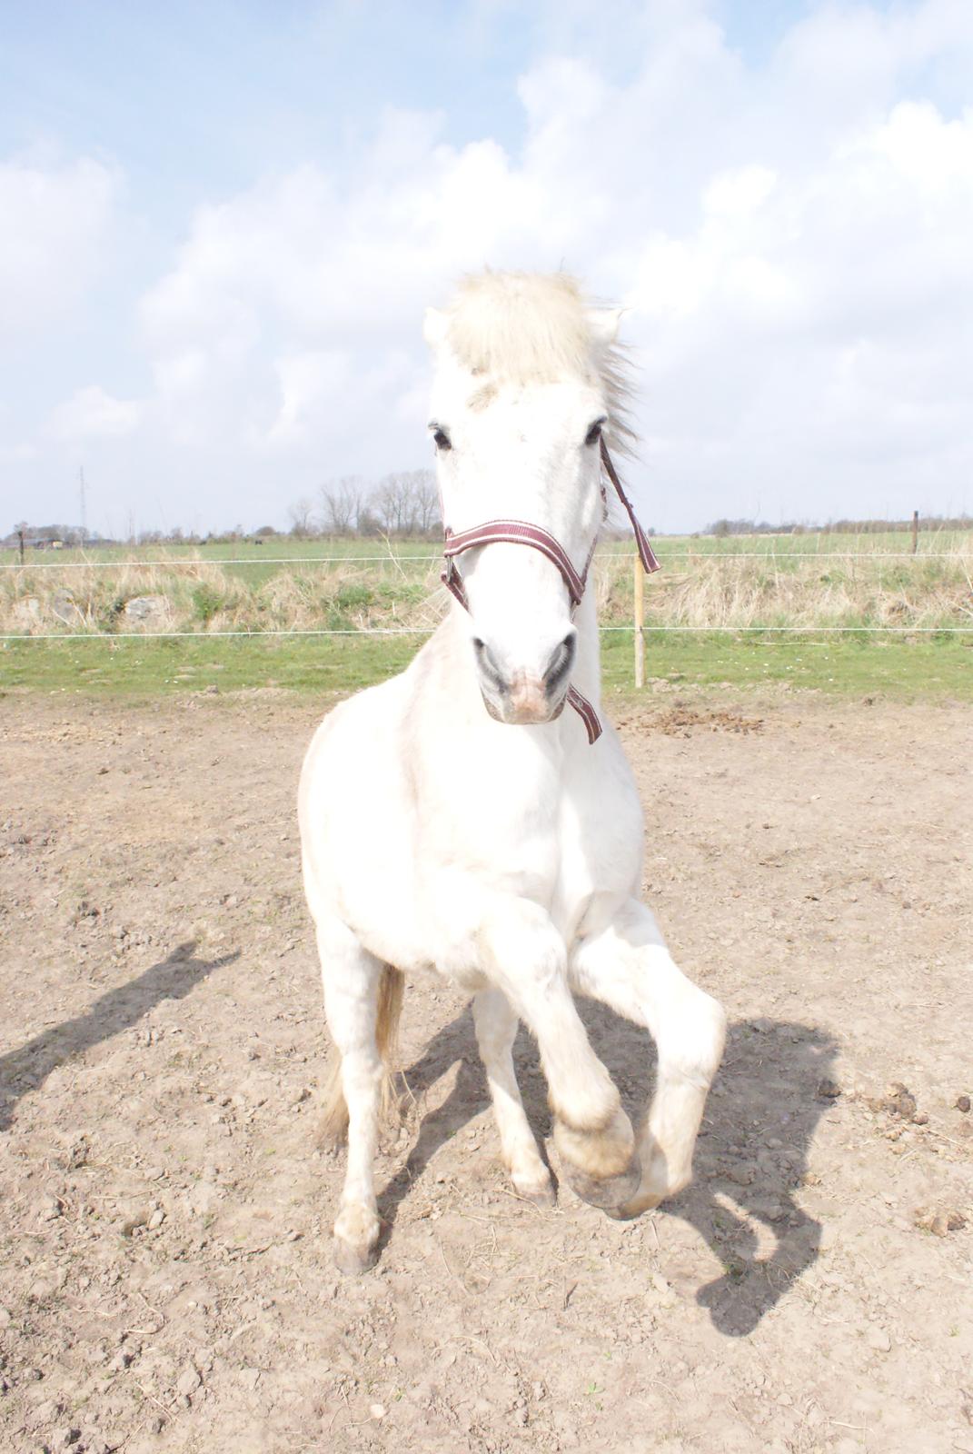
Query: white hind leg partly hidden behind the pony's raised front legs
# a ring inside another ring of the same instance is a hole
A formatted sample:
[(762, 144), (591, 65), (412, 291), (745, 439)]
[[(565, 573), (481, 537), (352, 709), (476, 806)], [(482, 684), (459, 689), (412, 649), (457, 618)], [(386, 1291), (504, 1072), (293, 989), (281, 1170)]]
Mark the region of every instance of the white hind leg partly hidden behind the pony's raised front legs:
[(500, 1133), (500, 1154), (513, 1189), (537, 1207), (553, 1207), (551, 1173), (538, 1152), (516, 1083), (512, 1047), (518, 1016), (506, 995), (496, 989), (476, 995), (473, 1024)]

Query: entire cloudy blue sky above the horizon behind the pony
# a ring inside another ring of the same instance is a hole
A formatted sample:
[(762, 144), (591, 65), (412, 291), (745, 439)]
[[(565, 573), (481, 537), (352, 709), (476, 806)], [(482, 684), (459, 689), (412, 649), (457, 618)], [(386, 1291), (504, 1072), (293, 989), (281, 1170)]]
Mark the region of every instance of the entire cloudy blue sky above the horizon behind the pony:
[[(428, 458), (422, 308), (630, 308), (662, 529), (970, 507), (973, 7), (0, 6), (0, 529)], [(7, 519), (9, 516), (9, 519)]]

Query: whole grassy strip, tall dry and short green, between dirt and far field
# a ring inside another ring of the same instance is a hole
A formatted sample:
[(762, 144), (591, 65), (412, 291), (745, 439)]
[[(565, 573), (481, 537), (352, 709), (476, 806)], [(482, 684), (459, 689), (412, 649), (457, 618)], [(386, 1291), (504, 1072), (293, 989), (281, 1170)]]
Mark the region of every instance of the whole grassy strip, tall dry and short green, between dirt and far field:
[[(973, 532), (922, 534), (916, 557), (899, 531), (662, 537), (654, 544), (663, 570), (646, 587), (646, 624), (672, 630), (647, 631), (650, 678), (686, 688), (788, 682), (851, 696), (973, 695)], [(602, 624), (624, 628), (633, 618), (631, 541), (608, 541), (598, 554)], [(288, 537), (263, 545), (32, 551), (23, 569), (6, 553), (0, 566), (15, 569), (0, 570), (0, 689), (352, 692), (401, 670), (425, 640), (422, 630), (367, 631), (435, 625), (447, 599), (438, 590), (439, 558), (438, 542), (428, 539), (387, 547)], [(147, 593), (157, 593), (166, 612), (138, 634), (127, 603)], [(271, 637), (321, 627), (361, 634)], [(58, 632), (84, 638), (39, 640)], [(605, 689), (631, 692), (631, 634), (605, 631), (602, 647)]]

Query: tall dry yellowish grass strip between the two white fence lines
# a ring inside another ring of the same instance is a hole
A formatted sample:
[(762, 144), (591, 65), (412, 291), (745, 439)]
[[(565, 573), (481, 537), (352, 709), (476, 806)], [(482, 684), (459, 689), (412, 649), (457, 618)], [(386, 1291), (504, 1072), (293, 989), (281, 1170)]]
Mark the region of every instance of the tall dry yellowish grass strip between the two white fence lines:
[[(604, 553), (595, 583), (604, 624), (633, 615), (633, 557)], [(140, 606), (145, 602), (148, 606)], [(435, 627), (447, 606), (436, 563), (311, 563), (259, 569), (192, 560), (0, 573), (0, 632), (362, 631)], [(140, 615), (145, 611), (145, 615)], [(938, 558), (868, 553), (672, 558), (646, 587), (650, 627), (969, 627), (973, 538)]]

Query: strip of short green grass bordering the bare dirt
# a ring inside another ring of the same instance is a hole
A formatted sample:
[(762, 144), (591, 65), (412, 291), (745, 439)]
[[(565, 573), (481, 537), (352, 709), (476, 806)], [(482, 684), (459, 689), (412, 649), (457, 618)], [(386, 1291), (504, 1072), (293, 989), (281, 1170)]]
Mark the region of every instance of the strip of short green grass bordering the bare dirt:
[[(16, 641), (0, 647), (0, 692), (147, 699), (217, 686), (346, 695), (400, 672), (425, 637), (262, 637)], [(633, 698), (633, 641), (602, 638), (606, 694)], [(686, 691), (788, 683), (841, 698), (973, 701), (969, 637), (691, 635), (647, 632), (646, 675)], [(647, 694), (643, 694), (647, 695)]]

